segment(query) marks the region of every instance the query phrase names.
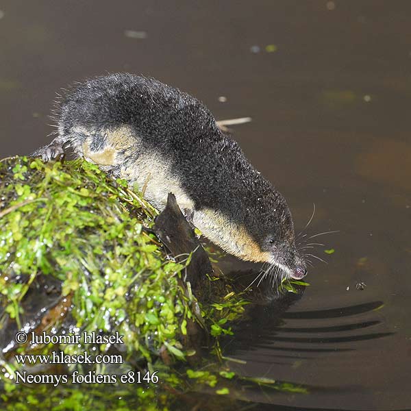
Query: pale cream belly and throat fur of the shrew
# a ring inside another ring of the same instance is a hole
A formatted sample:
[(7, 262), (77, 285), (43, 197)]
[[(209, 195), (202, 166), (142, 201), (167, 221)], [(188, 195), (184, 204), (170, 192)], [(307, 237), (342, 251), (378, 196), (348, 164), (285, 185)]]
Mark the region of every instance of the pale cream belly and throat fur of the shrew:
[[(82, 153), (86, 160), (101, 166), (101, 169), (108, 170), (112, 166), (120, 164), (119, 177), (127, 179), (132, 188), (137, 185), (138, 190), (143, 192), (145, 199), (158, 210), (164, 209), (169, 192), (173, 192), (179, 208), (183, 211), (194, 211), (193, 224), (216, 245), (245, 260), (256, 262), (270, 260), (269, 253), (260, 249), (256, 241), (247, 232), (246, 227), (229, 220), (227, 216), (218, 210), (212, 208), (195, 210), (192, 199), (184, 190), (178, 177), (172, 173), (167, 158), (153, 150), (138, 150), (139, 138), (132, 134), (132, 129), (129, 127), (123, 126), (115, 132), (106, 132), (105, 138), (107, 138), (108, 144), (98, 152), (90, 149), (92, 141), (92, 132), (90, 130), (77, 127), (75, 132), (86, 136), (81, 147), (74, 147), (77, 153)], [(90, 138), (87, 138), (87, 136), (90, 136)], [(124, 149), (124, 154), (119, 153), (120, 150)], [(130, 153), (138, 151), (140, 153), (133, 160), (132, 166), (129, 163), (127, 164), (125, 158)], [(225, 195), (225, 193), (222, 193), (222, 195)]]

